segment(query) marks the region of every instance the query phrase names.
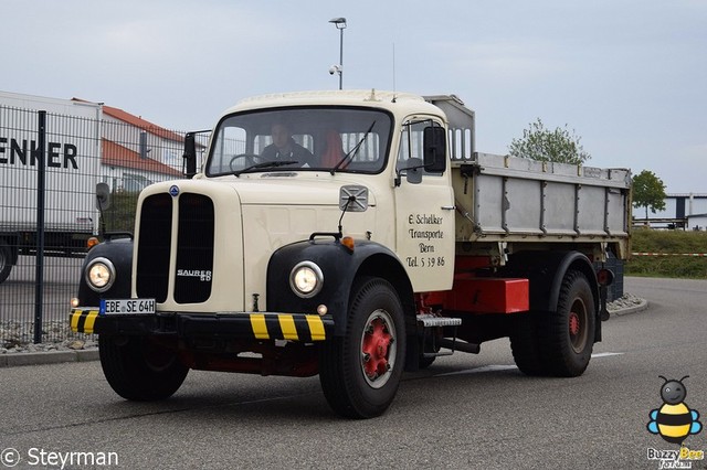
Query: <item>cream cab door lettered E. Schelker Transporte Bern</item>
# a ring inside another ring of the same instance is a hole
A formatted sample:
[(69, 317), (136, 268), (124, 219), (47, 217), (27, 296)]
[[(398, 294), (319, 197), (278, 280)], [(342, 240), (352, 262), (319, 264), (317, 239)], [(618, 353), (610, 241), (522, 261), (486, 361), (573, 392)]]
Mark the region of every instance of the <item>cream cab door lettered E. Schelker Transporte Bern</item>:
[[(434, 165), (425, 164), (425, 147), (426, 163), (432, 161), (430, 151), (436, 152)], [(454, 276), (454, 191), (440, 121), (411, 117), (403, 122), (395, 170), (397, 254), (415, 292), (449, 290)]]

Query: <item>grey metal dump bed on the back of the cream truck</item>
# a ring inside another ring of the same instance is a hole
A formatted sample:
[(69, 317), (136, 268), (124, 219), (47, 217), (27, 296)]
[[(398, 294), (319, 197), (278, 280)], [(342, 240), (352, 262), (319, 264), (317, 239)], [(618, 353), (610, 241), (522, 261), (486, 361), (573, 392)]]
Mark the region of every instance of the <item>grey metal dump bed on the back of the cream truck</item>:
[(452, 178), (458, 242), (629, 237), (629, 170), (474, 153), (453, 163)]

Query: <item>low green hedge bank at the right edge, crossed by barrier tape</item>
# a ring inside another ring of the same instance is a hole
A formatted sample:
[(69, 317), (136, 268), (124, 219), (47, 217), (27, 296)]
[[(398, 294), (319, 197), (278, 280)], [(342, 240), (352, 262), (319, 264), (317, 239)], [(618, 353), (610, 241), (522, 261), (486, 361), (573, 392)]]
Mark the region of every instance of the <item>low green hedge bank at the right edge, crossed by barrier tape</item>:
[(679, 256), (707, 253), (707, 232), (639, 228), (633, 231), (631, 250), (668, 256), (632, 256), (626, 276), (707, 279), (707, 257)]

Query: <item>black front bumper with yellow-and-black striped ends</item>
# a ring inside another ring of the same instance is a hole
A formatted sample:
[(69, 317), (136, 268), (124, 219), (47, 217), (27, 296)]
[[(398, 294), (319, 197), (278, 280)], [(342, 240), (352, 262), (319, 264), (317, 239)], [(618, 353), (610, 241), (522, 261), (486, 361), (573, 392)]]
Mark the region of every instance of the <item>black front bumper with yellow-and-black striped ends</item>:
[(71, 311), (71, 329), (87, 334), (313, 342), (325, 341), (334, 334), (334, 318), (329, 314), (273, 312), (102, 316), (97, 308), (75, 308)]

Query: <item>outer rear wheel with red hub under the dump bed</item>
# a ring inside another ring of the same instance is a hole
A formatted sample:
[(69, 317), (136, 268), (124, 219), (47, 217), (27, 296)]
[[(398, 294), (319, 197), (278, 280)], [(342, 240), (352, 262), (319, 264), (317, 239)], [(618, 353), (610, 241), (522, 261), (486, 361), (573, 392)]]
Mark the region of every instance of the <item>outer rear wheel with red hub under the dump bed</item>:
[(541, 348), (548, 372), (556, 376), (581, 375), (594, 348), (594, 298), (584, 275), (570, 270), (562, 280), (557, 311), (546, 317)]

